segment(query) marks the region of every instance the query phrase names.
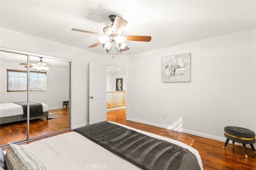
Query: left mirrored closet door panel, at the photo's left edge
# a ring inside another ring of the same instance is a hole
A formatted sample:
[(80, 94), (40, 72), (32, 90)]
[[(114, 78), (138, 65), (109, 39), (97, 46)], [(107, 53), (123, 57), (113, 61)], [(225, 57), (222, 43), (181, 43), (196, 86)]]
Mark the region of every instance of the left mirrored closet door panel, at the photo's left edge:
[[(21, 106), (27, 103), (27, 55), (0, 51), (0, 145), (27, 139), (27, 121)], [(17, 64), (18, 63), (18, 64)], [(18, 71), (19, 70), (19, 71)], [(21, 108), (20, 108), (21, 107)], [(21, 121), (20, 121), (21, 120)]]

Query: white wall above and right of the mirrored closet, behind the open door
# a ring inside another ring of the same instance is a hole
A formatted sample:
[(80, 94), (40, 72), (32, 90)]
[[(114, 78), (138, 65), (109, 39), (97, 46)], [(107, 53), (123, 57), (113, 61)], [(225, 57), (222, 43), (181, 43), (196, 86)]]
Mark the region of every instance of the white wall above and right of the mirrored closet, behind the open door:
[(98, 55), (5, 28), (0, 29), (0, 36), (1, 47), (72, 60), (72, 129), (81, 127), (88, 122), (88, 116), (85, 118), (85, 114), (88, 114), (89, 62), (106, 65), (128, 65), (129, 58), (126, 56), (119, 55), (113, 59), (109, 55)]

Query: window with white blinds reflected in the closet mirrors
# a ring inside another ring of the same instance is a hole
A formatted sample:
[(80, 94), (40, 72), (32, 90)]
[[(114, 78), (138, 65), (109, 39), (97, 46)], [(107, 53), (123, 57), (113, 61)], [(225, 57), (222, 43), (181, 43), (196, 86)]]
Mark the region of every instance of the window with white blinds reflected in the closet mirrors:
[[(46, 91), (46, 72), (29, 72), (30, 91)], [(27, 72), (7, 69), (7, 92), (27, 91)]]

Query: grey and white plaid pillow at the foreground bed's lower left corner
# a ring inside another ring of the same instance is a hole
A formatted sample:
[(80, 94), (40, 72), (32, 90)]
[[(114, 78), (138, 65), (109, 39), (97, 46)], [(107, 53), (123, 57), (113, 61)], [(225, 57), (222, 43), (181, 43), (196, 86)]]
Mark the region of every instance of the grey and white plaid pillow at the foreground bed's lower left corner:
[(8, 143), (5, 166), (8, 170), (46, 170), (44, 164), (29, 150), (12, 143)]

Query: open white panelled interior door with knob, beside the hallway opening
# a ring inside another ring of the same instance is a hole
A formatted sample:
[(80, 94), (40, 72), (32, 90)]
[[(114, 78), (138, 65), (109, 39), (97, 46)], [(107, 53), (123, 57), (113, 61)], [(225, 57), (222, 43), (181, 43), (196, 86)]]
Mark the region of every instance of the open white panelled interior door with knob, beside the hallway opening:
[(89, 64), (89, 124), (106, 121), (106, 66)]

